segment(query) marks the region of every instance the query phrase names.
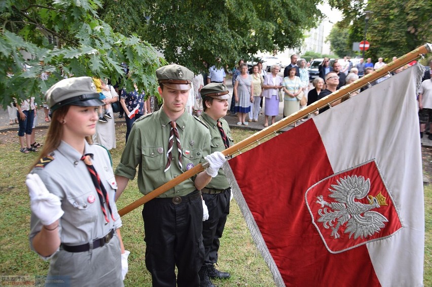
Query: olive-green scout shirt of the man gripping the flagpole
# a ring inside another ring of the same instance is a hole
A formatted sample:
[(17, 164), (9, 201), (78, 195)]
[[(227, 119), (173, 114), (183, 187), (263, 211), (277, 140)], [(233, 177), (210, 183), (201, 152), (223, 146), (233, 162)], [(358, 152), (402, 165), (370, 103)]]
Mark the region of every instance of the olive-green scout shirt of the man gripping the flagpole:
[[(159, 111), (142, 116), (134, 122), (116, 175), (133, 179), (138, 166), (138, 189), (147, 194), (199, 163), (210, 153), (210, 135), (197, 117), (183, 113), (175, 122), (182, 145), (182, 166), (178, 165), (178, 151), (174, 141), (172, 160), (168, 171), (167, 150), (171, 120), (161, 108)], [(196, 176), (179, 183), (158, 197), (185, 196), (194, 190)]]

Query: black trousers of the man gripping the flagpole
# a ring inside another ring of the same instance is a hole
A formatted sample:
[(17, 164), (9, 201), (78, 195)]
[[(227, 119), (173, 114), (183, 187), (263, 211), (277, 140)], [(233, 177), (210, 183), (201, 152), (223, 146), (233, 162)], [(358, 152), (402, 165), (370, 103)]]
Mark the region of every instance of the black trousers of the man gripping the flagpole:
[(202, 216), (201, 196), (179, 204), (154, 198), (144, 205), (146, 267), (154, 287), (199, 286), (198, 271), (204, 260)]

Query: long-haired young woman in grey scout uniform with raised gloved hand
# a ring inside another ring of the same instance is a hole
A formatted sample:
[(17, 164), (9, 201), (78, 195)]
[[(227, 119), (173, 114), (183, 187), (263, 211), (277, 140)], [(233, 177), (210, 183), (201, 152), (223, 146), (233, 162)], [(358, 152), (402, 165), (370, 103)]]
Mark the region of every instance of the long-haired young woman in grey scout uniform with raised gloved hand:
[(91, 144), (103, 103), (91, 77), (63, 79), (46, 97), (52, 122), (26, 180), (31, 249), (51, 259), (47, 280), (123, 286), (117, 183), (109, 154)]

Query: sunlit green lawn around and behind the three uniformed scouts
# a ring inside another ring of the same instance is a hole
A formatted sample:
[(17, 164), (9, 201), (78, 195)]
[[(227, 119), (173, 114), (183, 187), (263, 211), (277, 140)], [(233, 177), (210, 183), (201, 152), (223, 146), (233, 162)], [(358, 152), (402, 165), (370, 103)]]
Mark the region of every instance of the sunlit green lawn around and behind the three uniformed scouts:
[[(114, 167), (118, 165), (124, 148), (125, 126), (117, 126), (117, 148), (111, 151)], [(235, 142), (253, 135), (254, 132), (232, 129)], [(42, 138), (37, 139), (43, 142)], [(253, 146), (249, 147), (252, 148)], [(43, 261), (29, 249), (28, 233), (30, 208), (24, 184), (28, 168), (37, 157), (36, 153), (19, 152), (15, 143), (0, 143), (0, 274), (46, 275), (49, 262)], [(428, 175), (430, 178), (430, 175)], [(424, 285), (432, 286), (432, 186), (425, 187), (425, 252)], [(130, 181), (123, 192), (118, 209), (141, 197), (136, 180)], [(145, 266), (144, 228), (141, 209), (135, 209), (122, 217), (122, 236), (125, 247), (131, 251), (129, 273), (125, 286), (151, 286), (151, 276)], [(255, 248), (240, 210), (233, 200), (224, 236), (221, 238), (219, 268), (231, 273), (227, 280), (214, 280), (220, 287), (274, 286), (272, 275)]]

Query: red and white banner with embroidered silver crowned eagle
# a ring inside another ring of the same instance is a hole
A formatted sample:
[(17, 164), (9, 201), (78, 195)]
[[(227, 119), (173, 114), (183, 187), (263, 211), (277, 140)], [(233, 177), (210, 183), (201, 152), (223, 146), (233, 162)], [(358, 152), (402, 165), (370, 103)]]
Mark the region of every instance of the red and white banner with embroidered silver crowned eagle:
[(228, 161), (278, 286), (423, 285), (415, 69)]

